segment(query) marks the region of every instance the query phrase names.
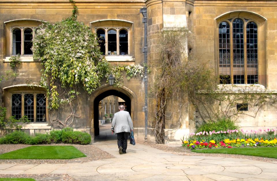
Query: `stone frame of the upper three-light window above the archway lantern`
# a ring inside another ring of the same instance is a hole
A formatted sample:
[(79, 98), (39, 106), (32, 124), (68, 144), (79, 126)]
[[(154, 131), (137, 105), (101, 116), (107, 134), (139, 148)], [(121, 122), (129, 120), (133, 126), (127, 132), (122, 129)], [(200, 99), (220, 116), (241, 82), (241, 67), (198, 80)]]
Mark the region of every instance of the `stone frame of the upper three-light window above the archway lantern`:
[[(135, 61), (134, 58), (134, 31), (133, 22), (119, 19), (105, 19), (90, 22), (91, 29), (94, 33), (97, 30), (105, 31), (105, 43), (108, 41), (108, 31), (113, 29), (117, 32), (117, 55), (108, 55), (108, 47), (106, 47), (105, 56), (108, 61)], [(128, 32), (128, 55), (119, 55), (119, 32), (127, 30)]]

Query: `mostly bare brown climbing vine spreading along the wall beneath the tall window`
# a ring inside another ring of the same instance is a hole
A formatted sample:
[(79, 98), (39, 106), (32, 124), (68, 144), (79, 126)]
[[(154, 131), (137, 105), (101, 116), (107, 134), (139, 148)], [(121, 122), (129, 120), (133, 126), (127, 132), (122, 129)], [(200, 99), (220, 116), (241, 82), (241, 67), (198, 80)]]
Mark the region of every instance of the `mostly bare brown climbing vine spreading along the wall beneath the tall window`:
[[(154, 91), (155, 137), (164, 143), (165, 120), (172, 113), (179, 113), (183, 105), (193, 105), (202, 123), (230, 118), (235, 121), (240, 114), (256, 117), (266, 105), (277, 107), (276, 93), (261, 85), (220, 84), (219, 76), (209, 69), (209, 63), (199, 63), (196, 57), (186, 56), (187, 44), (192, 45), (193, 36), (188, 30), (163, 31), (160, 36), (160, 71), (156, 73)], [(170, 110), (170, 105), (179, 104), (179, 109)], [(242, 107), (237, 108), (237, 105)], [(250, 112), (242, 111), (248, 107)], [(195, 121), (195, 120), (194, 120)], [(198, 125), (199, 126), (199, 125)]]

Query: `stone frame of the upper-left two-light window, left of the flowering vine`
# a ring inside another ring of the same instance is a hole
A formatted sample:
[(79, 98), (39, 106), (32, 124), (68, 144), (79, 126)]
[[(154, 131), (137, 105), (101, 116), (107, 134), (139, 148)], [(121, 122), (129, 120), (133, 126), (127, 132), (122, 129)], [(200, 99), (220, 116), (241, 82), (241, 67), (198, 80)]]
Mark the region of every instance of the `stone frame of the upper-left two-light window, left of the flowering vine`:
[(24, 31), (26, 29), (31, 29), (33, 33), (33, 38), (35, 36), (35, 30), (41, 24), (41, 20), (34, 20), (34, 19), (18, 19), (18, 20), (11, 20), (4, 22), (4, 52), (5, 56), (3, 61), (9, 62), (9, 58), (11, 56), (15, 56), (12, 53), (12, 45), (13, 39), (12, 34), (15, 29), (19, 29), (21, 31), (21, 55), (20, 61), (34, 61), (33, 55), (25, 55), (24, 54)]

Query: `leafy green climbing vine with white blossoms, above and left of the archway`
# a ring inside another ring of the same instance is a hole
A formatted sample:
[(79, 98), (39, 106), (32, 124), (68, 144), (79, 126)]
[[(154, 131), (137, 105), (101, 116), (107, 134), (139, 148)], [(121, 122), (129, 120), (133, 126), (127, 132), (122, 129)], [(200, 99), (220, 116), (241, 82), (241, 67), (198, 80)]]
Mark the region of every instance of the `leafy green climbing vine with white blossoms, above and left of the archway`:
[(78, 7), (73, 0), (70, 2), (72, 16), (55, 24), (42, 22), (32, 47), (33, 58), (41, 60), (44, 67), (40, 86), (47, 90), (50, 110), (58, 109), (63, 103), (68, 103), (71, 108), (63, 122), (51, 120), (57, 126), (70, 125), (74, 117), (81, 117), (75, 115), (72, 108), (72, 101), (76, 98), (78, 101), (80, 88), (91, 94), (110, 74), (115, 78), (114, 86), (119, 86), (122, 72), (126, 72), (128, 80), (144, 72), (140, 65), (111, 66), (100, 51), (97, 35), (83, 22), (77, 21)]

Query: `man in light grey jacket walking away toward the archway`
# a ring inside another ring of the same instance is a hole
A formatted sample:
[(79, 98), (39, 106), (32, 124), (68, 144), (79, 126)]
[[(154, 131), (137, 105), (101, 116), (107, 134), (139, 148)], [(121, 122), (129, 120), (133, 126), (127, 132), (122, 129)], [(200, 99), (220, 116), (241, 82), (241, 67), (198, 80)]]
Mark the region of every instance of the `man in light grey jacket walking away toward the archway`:
[(112, 121), (112, 132), (117, 134), (117, 145), (119, 154), (125, 154), (127, 149), (127, 139), (133, 131), (133, 122), (128, 111), (124, 111), (125, 106), (118, 106), (119, 112), (115, 113)]

